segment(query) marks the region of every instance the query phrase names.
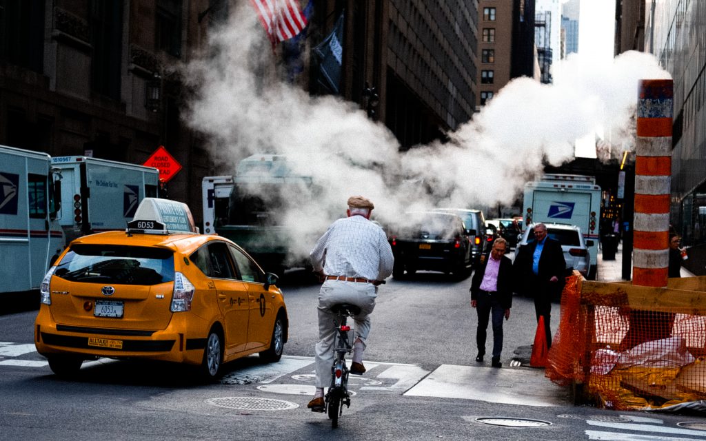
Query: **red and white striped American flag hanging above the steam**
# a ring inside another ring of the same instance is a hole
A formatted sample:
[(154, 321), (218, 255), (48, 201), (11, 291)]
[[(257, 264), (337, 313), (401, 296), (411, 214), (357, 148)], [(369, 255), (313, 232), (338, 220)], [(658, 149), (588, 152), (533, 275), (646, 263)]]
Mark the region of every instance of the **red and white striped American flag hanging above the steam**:
[(272, 44), (289, 40), (306, 28), (297, 0), (250, 0)]

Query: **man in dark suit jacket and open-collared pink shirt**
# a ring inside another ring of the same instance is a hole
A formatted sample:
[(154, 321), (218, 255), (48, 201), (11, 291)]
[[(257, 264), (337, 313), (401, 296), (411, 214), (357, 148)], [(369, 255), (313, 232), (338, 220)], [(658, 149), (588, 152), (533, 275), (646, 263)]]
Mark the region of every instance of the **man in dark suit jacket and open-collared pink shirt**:
[(490, 255), (484, 256), (471, 280), (471, 306), (478, 312), (477, 362), (485, 356), (486, 330), (488, 319), (493, 318), (493, 368), (501, 368), (500, 354), (503, 351), (503, 317), (510, 318), (513, 304), (513, 262), (505, 257), (508, 242), (497, 238), (493, 242)]

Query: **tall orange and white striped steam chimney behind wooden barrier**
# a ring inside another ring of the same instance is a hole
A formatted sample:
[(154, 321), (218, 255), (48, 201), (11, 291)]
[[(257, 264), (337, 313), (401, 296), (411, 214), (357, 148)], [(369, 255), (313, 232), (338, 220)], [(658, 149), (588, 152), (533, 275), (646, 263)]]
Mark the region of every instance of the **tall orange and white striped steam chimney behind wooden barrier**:
[(633, 284), (666, 286), (669, 267), (672, 80), (640, 80), (635, 147)]

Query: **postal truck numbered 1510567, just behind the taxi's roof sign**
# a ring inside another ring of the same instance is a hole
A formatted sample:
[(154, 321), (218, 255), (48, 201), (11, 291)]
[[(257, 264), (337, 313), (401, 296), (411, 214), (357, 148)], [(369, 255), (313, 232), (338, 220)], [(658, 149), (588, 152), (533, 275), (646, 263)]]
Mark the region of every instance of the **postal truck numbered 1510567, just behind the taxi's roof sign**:
[(156, 198), (160, 172), (85, 156), (52, 158), (61, 172), (61, 226), (66, 243), (84, 234), (125, 229), (144, 198)]

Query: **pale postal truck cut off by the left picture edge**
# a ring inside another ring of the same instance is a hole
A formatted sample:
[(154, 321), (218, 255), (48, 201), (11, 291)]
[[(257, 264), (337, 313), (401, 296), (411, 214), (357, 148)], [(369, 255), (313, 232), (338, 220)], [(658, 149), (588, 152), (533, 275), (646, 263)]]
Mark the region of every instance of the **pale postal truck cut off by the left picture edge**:
[(0, 293), (38, 289), (64, 248), (52, 158), (0, 145)]

